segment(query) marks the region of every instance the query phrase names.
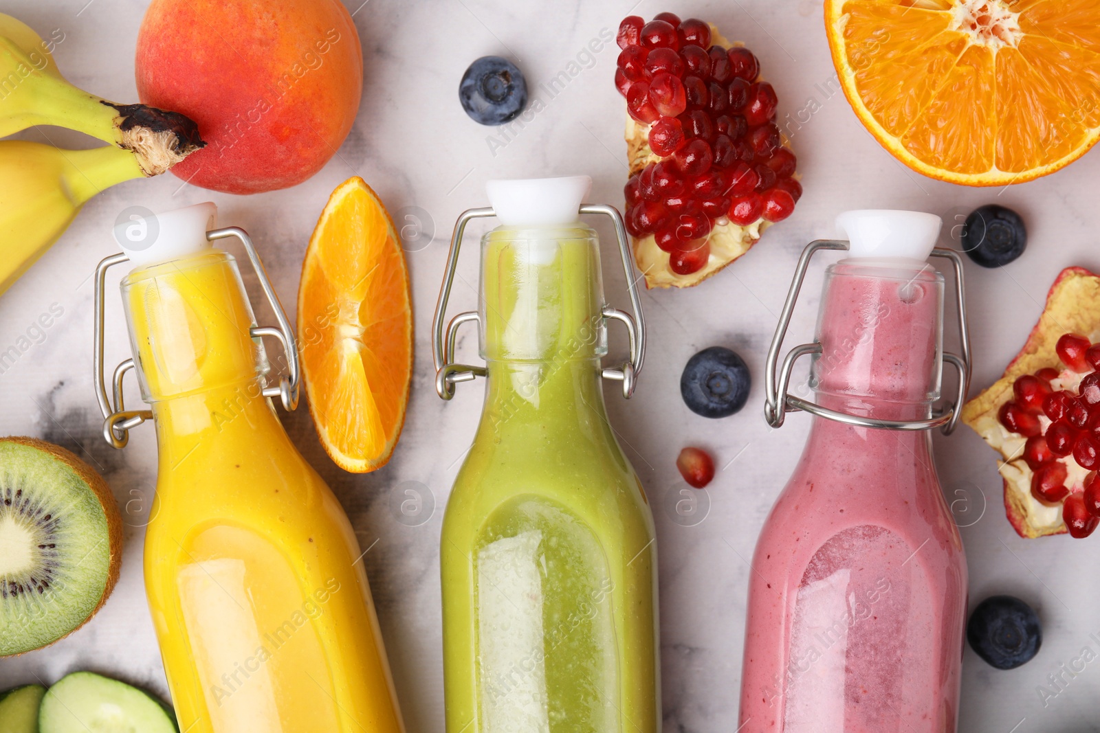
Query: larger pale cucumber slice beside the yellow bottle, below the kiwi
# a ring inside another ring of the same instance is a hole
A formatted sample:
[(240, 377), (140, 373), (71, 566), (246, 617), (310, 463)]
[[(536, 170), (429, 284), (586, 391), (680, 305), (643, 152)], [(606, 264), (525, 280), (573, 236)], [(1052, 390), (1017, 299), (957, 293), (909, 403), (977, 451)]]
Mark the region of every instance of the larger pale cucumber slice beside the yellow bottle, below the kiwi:
[(40, 733), (177, 733), (161, 701), (90, 671), (62, 677), (42, 699)]

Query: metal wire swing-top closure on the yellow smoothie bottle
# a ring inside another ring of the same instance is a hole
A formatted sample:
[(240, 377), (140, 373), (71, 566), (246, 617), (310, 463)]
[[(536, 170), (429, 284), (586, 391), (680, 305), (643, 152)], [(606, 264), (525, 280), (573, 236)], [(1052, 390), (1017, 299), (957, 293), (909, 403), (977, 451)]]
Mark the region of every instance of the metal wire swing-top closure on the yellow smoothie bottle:
[[(210, 242), (229, 237), (235, 237), (244, 245), (244, 251), (249, 255), (249, 262), (252, 263), (252, 267), (260, 278), (260, 286), (264, 290), (264, 296), (267, 297), (267, 302), (271, 303), (272, 310), (275, 311), (275, 319), (278, 321), (277, 329), (272, 326), (252, 326), (249, 330), (249, 334), (253, 338), (274, 336), (283, 344), (283, 351), (286, 353), (287, 360), (287, 376), (279, 378), (277, 387), (265, 387), (263, 396), (278, 397), (283, 402), (283, 409), (289, 412), (298, 407), (300, 374), (298, 368), (298, 347), (294, 337), (294, 330), (290, 327), (290, 321), (286, 316), (286, 311), (283, 310), (283, 304), (275, 293), (275, 288), (272, 287), (271, 279), (267, 277), (267, 270), (264, 269), (264, 264), (260, 259), (256, 247), (252, 244), (252, 238), (248, 232), (238, 226), (226, 226), (207, 232), (207, 240)], [(123, 402), (122, 380), (127, 371), (134, 368), (133, 358), (125, 359), (114, 367), (114, 374), (111, 378), (113, 401), (108, 396), (107, 386), (103, 381), (103, 289), (107, 279), (107, 269), (112, 265), (118, 265), (129, 259), (127, 255), (119, 253), (100, 260), (99, 265), (96, 266), (96, 292), (94, 297), (94, 382), (96, 385), (96, 398), (99, 400), (99, 409), (103, 413), (103, 437), (116, 448), (125, 447), (127, 443), (130, 442), (131, 429), (136, 427), (146, 420), (153, 419), (152, 410), (127, 410)]]

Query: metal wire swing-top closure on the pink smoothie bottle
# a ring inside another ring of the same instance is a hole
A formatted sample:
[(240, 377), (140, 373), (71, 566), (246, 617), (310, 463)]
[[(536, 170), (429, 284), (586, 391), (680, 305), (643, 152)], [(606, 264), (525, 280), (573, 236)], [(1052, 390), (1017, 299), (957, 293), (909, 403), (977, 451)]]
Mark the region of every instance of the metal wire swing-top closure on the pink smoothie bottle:
[(791, 371), (794, 369), (794, 363), (799, 357), (806, 354), (822, 353), (822, 345), (817, 342), (801, 344), (792, 348), (783, 359), (782, 367), (779, 369), (779, 378), (777, 379), (776, 377), (779, 352), (783, 346), (787, 327), (791, 323), (791, 313), (794, 310), (794, 302), (799, 298), (799, 291), (802, 289), (802, 280), (806, 275), (806, 268), (810, 266), (810, 258), (822, 249), (847, 251), (848, 242), (840, 240), (817, 240), (807, 244), (806, 248), (802, 251), (799, 265), (794, 270), (794, 279), (791, 281), (791, 289), (787, 293), (787, 302), (783, 303), (783, 311), (779, 316), (776, 335), (772, 337), (771, 346), (768, 348), (768, 360), (763, 375), (765, 397), (767, 400), (763, 412), (768, 423), (772, 427), (779, 427), (783, 424), (787, 412), (804, 410), (820, 418), (828, 418), (829, 420), (860, 427), (881, 427), (886, 430), (930, 430), (932, 427), (939, 427), (945, 435), (949, 435), (958, 424), (963, 403), (966, 401), (967, 391), (970, 388), (970, 330), (966, 320), (966, 298), (963, 292), (963, 259), (959, 257), (959, 254), (954, 249), (945, 247), (935, 247), (932, 251), (933, 257), (945, 257), (952, 260), (952, 265), (955, 268), (955, 302), (959, 318), (959, 349), (963, 354), (945, 353), (943, 355), (944, 360), (955, 366), (959, 373), (959, 387), (955, 403), (945, 406), (927, 420), (880, 420), (829, 410), (816, 402), (811, 402), (810, 400), (804, 400), (787, 392), (788, 385), (791, 381)]

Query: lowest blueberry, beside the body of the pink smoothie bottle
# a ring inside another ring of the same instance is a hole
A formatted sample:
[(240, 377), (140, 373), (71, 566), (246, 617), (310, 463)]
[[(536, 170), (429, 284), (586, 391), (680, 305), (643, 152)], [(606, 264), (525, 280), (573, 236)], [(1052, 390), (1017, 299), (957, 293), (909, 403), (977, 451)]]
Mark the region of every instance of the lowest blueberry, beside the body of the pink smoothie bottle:
[(1038, 615), (1012, 596), (990, 596), (970, 614), (966, 637), (982, 659), (998, 669), (1031, 662), (1043, 643)]

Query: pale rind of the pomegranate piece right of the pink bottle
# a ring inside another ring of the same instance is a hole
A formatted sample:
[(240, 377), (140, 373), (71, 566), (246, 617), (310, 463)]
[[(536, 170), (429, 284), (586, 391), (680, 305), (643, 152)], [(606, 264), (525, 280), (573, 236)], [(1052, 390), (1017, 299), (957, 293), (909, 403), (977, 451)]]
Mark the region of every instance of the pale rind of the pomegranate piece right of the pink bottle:
[[(1031, 493), (1032, 469), (1023, 459), (1024, 437), (1010, 433), (997, 419), (998, 410), (1012, 400), (1012, 385), (1025, 374), (1065, 367), (1055, 345), (1068, 332), (1100, 335), (1100, 276), (1084, 267), (1067, 267), (1050, 286), (1046, 304), (1027, 341), (1004, 370), (1004, 375), (963, 408), (963, 422), (998, 453), (998, 471), (1004, 481), (1004, 511), (1022, 537), (1064, 534), (1062, 504), (1044, 504)], [(1079, 490), (1080, 487), (1071, 487)]]

